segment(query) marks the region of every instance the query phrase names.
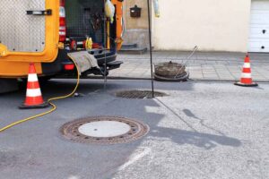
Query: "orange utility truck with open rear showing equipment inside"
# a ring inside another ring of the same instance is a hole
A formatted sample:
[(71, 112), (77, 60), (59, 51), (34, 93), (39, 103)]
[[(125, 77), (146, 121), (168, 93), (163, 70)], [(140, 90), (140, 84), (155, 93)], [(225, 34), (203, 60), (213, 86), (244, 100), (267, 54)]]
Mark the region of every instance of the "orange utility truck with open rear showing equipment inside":
[(114, 21), (105, 15), (106, 1), (1, 0), (0, 92), (26, 78), (30, 63), (41, 79), (74, 74), (67, 53), (87, 51), (95, 56), (99, 68), (84, 76), (108, 75), (120, 67), (116, 57), (123, 41), (123, 0), (111, 0)]

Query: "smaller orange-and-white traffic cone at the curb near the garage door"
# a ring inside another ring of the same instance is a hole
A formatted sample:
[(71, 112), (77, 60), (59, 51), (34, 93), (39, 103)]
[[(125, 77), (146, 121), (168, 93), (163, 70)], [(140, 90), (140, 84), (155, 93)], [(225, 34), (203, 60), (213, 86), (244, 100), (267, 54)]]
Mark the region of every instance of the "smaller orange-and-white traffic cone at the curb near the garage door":
[(235, 85), (239, 85), (243, 87), (256, 87), (257, 86), (257, 83), (252, 81), (250, 58), (248, 54), (245, 57), (245, 63), (244, 63), (242, 74), (241, 74), (241, 80), (239, 82), (236, 82)]

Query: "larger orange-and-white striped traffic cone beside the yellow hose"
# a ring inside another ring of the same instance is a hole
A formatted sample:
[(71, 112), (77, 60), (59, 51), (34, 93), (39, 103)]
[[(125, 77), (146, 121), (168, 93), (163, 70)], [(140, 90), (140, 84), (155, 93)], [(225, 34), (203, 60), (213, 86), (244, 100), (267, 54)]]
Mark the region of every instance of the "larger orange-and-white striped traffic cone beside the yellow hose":
[(39, 79), (34, 64), (29, 66), (28, 82), (26, 99), (22, 104), (21, 109), (34, 109), (48, 107), (48, 103), (44, 102), (39, 87)]

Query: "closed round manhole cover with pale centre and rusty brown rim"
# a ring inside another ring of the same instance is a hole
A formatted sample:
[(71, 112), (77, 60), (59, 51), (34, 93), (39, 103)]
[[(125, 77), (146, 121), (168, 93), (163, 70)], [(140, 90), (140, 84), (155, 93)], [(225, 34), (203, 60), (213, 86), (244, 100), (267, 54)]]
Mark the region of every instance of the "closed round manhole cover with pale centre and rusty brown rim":
[(71, 141), (116, 144), (142, 138), (149, 132), (149, 126), (124, 117), (96, 116), (64, 124), (60, 131)]

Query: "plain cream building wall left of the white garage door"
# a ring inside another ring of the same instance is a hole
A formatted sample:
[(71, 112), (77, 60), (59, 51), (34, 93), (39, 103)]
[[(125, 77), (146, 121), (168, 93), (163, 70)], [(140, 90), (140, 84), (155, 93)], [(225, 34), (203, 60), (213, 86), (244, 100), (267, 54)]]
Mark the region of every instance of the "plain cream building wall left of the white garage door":
[(247, 52), (251, 0), (159, 0), (157, 50)]

